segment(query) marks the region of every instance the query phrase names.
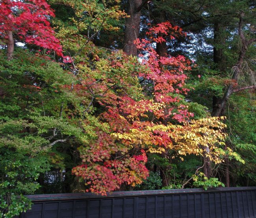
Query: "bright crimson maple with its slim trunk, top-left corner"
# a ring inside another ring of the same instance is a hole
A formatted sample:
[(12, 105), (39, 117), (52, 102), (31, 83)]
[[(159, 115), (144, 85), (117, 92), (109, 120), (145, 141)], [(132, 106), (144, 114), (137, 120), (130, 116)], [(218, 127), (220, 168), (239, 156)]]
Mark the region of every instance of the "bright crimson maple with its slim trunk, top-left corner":
[(49, 17), (54, 17), (54, 11), (45, 0), (26, 2), (3, 0), (0, 2), (0, 7), (0, 37), (7, 41), (8, 60), (13, 58), (15, 39), (17, 42), (35, 44), (62, 55), (61, 45), (49, 22)]

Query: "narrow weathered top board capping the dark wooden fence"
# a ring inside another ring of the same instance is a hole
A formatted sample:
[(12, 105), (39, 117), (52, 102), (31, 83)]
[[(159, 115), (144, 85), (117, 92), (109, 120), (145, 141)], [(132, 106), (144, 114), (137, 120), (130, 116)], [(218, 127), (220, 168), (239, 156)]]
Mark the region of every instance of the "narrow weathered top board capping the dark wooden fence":
[(107, 196), (101, 196), (93, 193), (67, 193), (67, 194), (37, 194), (26, 195), (32, 201), (45, 200), (75, 200), (88, 198), (113, 198), (113, 197), (131, 197), (131, 196), (149, 196), (149, 195), (166, 195), (166, 194), (189, 194), (189, 193), (207, 193), (207, 192), (232, 192), (232, 191), (250, 191), (256, 190), (256, 187), (225, 187), (204, 189), (168, 189), (168, 190), (148, 190), (148, 191), (116, 191), (109, 192)]

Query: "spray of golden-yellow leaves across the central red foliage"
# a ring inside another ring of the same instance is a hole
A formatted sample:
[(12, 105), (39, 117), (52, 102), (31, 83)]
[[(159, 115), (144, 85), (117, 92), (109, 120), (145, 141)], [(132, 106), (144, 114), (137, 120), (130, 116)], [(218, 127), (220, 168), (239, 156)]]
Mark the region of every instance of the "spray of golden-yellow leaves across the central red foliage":
[[(161, 107), (159, 104), (155, 106)], [(191, 120), (183, 125), (141, 123), (143, 128), (130, 129), (126, 133), (113, 133), (112, 136), (130, 147), (145, 148), (150, 153), (162, 154), (172, 149), (180, 156), (195, 154), (221, 163), (226, 155), (238, 158), (231, 149), (222, 149), (226, 138), (223, 132), (226, 125), (221, 122), (223, 119), (225, 117), (210, 117)]]

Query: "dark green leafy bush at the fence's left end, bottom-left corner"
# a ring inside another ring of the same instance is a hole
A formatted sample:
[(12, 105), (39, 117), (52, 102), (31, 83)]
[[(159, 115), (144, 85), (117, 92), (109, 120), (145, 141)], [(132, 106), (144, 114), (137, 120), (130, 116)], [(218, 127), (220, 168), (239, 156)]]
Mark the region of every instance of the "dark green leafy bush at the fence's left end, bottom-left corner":
[[(0, 130), (3, 128), (0, 127)], [(49, 169), (47, 159), (42, 150), (27, 149), (26, 141), (18, 136), (15, 140), (6, 143), (8, 135), (4, 136), (1, 131), (0, 139), (0, 216), (11, 218), (31, 207), (31, 202), (22, 194), (33, 194), (39, 188), (37, 178), (39, 173)], [(13, 134), (15, 135), (15, 134)], [(19, 144), (15, 142), (19, 141)]]

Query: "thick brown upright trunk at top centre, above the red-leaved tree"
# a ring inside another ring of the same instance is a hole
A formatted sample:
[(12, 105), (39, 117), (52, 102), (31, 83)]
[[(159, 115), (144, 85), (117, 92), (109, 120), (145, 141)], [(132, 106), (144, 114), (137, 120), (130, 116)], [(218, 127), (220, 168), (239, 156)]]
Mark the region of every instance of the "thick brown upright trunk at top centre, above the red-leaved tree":
[(139, 37), (139, 28), (141, 22), (142, 0), (128, 0), (127, 14), (130, 16), (125, 20), (124, 48), (123, 51), (132, 56), (137, 55), (137, 48), (134, 40)]

